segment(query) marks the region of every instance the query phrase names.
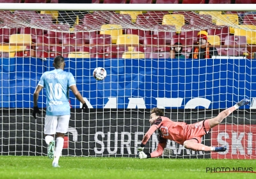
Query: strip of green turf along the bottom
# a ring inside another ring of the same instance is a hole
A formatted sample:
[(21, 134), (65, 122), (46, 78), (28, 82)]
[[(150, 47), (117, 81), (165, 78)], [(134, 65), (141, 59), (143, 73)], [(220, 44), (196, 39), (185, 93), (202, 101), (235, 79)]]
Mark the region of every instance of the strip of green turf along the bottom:
[(61, 157), (60, 168), (51, 164), (47, 157), (0, 156), (0, 178), (256, 178), (256, 173), (206, 173), (206, 167), (256, 171), (256, 160)]

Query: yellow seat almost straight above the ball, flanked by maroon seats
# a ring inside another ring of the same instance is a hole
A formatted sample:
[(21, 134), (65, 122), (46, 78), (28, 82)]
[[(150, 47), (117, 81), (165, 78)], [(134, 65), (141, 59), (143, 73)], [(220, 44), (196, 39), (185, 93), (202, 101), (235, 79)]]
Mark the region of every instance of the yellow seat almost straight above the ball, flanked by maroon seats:
[(111, 35), (111, 43), (116, 43), (117, 36), (123, 34), (120, 24), (104, 24), (100, 28), (100, 34)]

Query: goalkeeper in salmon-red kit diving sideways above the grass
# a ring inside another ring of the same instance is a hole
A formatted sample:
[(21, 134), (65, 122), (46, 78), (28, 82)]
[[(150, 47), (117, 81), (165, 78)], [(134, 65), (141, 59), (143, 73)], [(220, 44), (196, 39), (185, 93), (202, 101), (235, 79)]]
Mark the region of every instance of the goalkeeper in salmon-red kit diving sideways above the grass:
[[(211, 118), (204, 121), (199, 121), (193, 124), (187, 124), (184, 122), (175, 122), (163, 116), (163, 111), (155, 107), (150, 113), (150, 124), (152, 125), (148, 132), (143, 137), (140, 147), (137, 148), (140, 159), (148, 159), (153, 157), (159, 157), (163, 154), (167, 140), (170, 139), (176, 143), (182, 144), (184, 148), (195, 151), (212, 151), (212, 152), (225, 152), (227, 146), (205, 146), (201, 144), (202, 136), (209, 134), (212, 127), (219, 125), (221, 121), (226, 118), (233, 111), (239, 107), (249, 104), (250, 100), (244, 98), (240, 102), (237, 102), (232, 107), (225, 109), (215, 118)], [(159, 143), (157, 150), (152, 153), (144, 153), (144, 146), (147, 143), (150, 136), (158, 130), (159, 136), (157, 137)]]

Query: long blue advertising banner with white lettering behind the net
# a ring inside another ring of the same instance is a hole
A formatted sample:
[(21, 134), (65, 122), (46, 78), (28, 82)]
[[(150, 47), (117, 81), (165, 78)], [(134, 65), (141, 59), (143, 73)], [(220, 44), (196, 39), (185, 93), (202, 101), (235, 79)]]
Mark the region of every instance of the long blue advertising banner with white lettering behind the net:
[[(253, 59), (66, 59), (65, 70), (92, 108), (219, 109), (256, 97)], [(0, 59), (1, 107), (33, 107), (33, 92), (53, 59)], [(96, 81), (93, 70), (107, 77)], [(38, 105), (45, 107), (44, 91)], [(195, 104), (195, 100), (198, 104)], [(72, 107), (80, 107), (70, 92)], [(250, 106), (246, 106), (249, 108)]]

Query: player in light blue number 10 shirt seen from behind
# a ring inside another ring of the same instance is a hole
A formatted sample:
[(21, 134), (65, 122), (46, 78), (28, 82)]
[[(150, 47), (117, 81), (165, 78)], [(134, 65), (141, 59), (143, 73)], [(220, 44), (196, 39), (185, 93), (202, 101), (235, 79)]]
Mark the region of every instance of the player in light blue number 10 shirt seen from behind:
[[(45, 115), (45, 142), (48, 144), (47, 155), (52, 161), (53, 167), (59, 166), (59, 159), (63, 149), (64, 135), (68, 132), (68, 123), (70, 119), (70, 104), (68, 100), (68, 91), (72, 90), (75, 97), (83, 104), (82, 109), (87, 111), (88, 106), (76, 87), (74, 76), (70, 72), (65, 72), (65, 62), (62, 56), (54, 58), (54, 70), (44, 72), (38, 86), (34, 92), (33, 116), (36, 119), (36, 113), (41, 114), (37, 106), (38, 95), (42, 88), (46, 89), (46, 115)], [(54, 134), (56, 134), (56, 148)]]

